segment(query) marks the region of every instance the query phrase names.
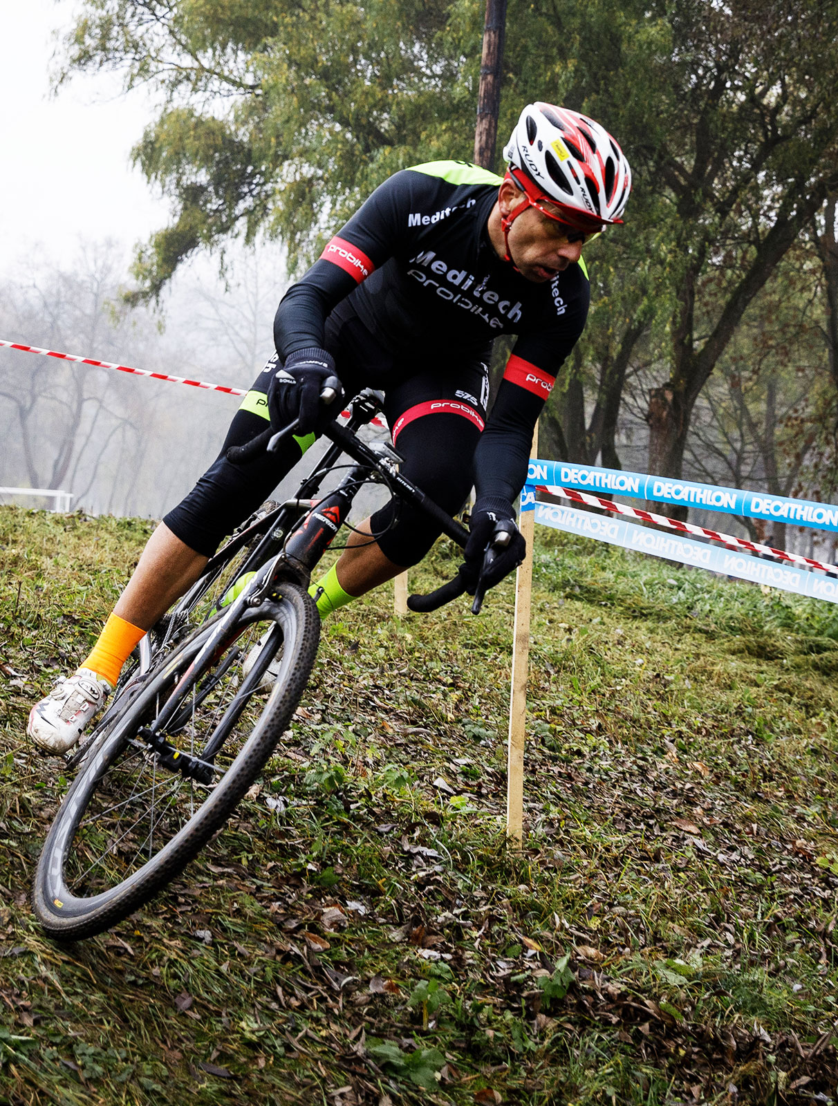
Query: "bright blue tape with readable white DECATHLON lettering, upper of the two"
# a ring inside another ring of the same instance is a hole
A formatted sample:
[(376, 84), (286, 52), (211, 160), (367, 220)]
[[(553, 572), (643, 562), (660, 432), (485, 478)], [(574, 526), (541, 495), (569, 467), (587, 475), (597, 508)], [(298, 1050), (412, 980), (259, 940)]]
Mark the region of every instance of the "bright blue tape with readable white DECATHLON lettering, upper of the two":
[[(795, 526), (838, 530), (838, 507), (831, 503), (765, 495), (736, 488), (716, 488), (713, 484), (671, 480), (643, 472), (595, 469), (589, 465), (569, 465), (565, 461), (532, 460), (526, 482), (546, 484), (548, 491), (553, 488), (572, 488), (574, 491), (610, 492), (612, 495), (650, 499), (679, 507), (699, 507), (706, 511), (722, 511), (724, 514), (744, 514), (751, 519), (777, 520)], [(530, 510), (532, 503), (527, 501), (522, 505), (524, 510)]]

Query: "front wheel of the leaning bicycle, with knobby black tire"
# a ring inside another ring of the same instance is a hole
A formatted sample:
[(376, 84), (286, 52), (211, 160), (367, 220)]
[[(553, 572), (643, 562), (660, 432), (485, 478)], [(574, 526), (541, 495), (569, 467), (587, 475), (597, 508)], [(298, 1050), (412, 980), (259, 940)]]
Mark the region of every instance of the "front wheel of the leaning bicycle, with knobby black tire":
[(311, 596), (280, 584), (217, 633), (205, 627), (168, 654), (86, 753), (32, 890), (51, 937), (99, 933), (165, 887), (227, 822), (287, 729), (320, 641)]

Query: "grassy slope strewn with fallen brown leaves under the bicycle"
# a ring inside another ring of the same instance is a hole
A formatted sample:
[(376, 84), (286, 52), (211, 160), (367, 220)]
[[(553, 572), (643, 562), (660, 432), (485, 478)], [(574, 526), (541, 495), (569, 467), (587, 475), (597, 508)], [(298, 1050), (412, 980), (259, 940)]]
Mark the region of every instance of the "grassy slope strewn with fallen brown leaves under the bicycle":
[(0, 509), (0, 1102), (834, 1100), (836, 609), (555, 534), (520, 857), (511, 585), (404, 622), (385, 588), (230, 832), (112, 933), (44, 940), (63, 782), (25, 713), (148, 530)]

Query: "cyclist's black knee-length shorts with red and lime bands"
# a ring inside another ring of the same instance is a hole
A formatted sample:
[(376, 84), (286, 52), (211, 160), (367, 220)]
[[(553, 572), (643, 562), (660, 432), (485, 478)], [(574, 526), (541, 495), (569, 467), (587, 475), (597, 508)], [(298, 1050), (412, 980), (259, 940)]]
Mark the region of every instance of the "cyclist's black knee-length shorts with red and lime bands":
[[(325, 346), (335, 358), (347, 396), (363, 387), (385, 393), (385, 417), (401, 471), (434, 502), (454, 513), (474, 483), (474, 450), (489, 399), (483, 361), (451, 365), (418, 364), (384, 349), (346, 301), (326, 321)], [(488, 352), (486, 352), (488, 361)], [(261, 434), (268, 419), (268, 386), (279, 362), (274, 355), (233, 417), (216, 461), (164, 522), (190, 549), (211, 556), (223, 539), (268, 499), (314, 441), (287, 438), (275, 453), (233, 465), (224, 456)], [(439, 528), (416, 508), (391, 500), (373, 515), (381, 552), (397, 565), (417, 564), (439, 536)]]

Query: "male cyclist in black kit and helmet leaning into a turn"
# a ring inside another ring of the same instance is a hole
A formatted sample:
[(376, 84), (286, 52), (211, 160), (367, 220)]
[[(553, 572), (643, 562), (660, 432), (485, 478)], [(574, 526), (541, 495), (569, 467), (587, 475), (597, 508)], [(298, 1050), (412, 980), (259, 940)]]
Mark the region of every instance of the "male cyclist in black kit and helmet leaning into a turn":
[[(284, 295), (276, 353), (232, 420), (221, 453), (151, 535), (82, 667), (35, 705), (28, 732), (44, 751), (72, 748), (104, 705), (140, 637), (198, 578), (221, 540), (268, 498), (315, 440), (320, 393), (385, 393), (402, 471), (455, 512), (472, 486), (470, 539), (460, 574), (473, 594), (499, 520), (513, 539), (496, 584), (523, 559), (513, 503), (556, 374), (582, 334), (589, 284), (584, 244), (621, 222), (628, 161), (594, 119), (527, 104), (504, 148), (503, 178), (463, 161), (404, 169), (380, 185)], [(492, 340), (517, 335), (486, 421)], [(300, 419), (276, 453), (234, 465), (230, 446)], [(312, 587), (327, 614), (419, 562), (439, 531), (392, 502), (359, 526), (337, 564)], [(376, 536), (377, 535), (377, 536)]]

